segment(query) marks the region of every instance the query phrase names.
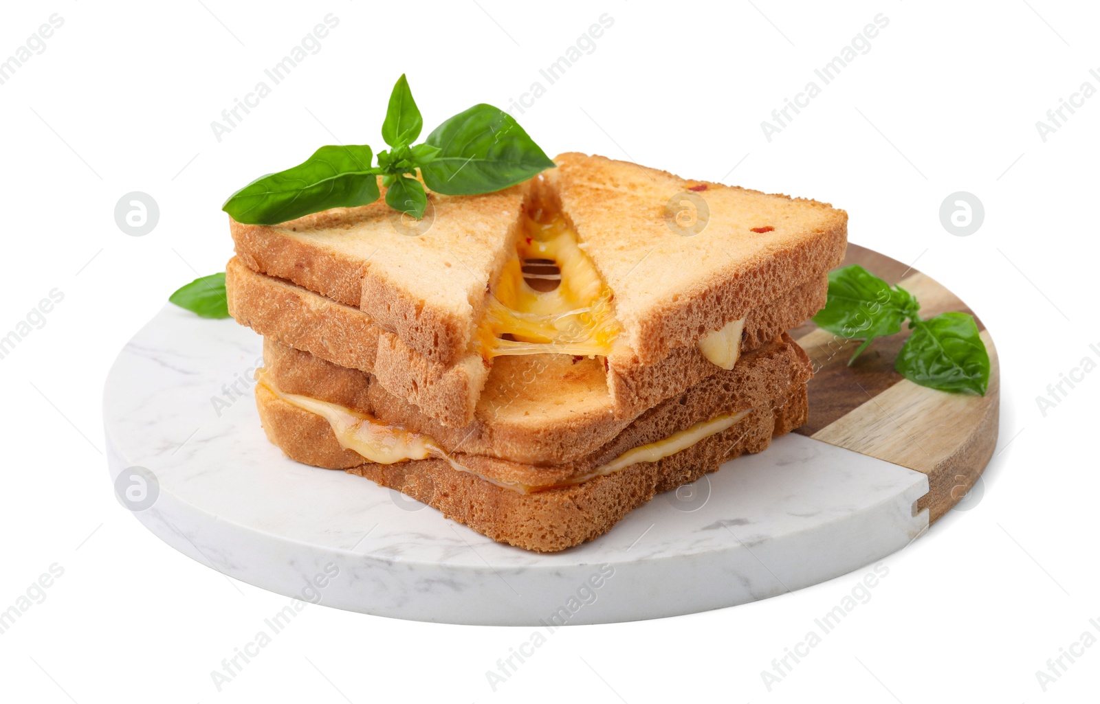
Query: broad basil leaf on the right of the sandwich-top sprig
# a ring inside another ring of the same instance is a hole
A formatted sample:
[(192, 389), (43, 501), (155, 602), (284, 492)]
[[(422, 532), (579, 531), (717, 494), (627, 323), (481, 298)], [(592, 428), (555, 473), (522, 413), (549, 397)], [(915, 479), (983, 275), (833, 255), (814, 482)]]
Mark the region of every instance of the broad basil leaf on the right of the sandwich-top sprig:
[(491, 193), (553, 166), (524, 128), (484, 103), (460, 112), (428, 135), (439, 154), (420, 166), (428, 188), (448, 195)]

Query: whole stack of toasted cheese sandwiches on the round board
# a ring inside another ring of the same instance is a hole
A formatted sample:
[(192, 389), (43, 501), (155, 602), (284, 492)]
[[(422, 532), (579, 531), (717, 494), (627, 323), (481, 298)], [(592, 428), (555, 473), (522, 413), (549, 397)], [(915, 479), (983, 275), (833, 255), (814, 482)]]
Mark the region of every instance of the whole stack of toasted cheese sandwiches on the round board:
[(231, 223), (232, 315), (289, 457), (561, 550), (805, 422), (784, 333), (847, 215), (603, 157), (485, 195)]

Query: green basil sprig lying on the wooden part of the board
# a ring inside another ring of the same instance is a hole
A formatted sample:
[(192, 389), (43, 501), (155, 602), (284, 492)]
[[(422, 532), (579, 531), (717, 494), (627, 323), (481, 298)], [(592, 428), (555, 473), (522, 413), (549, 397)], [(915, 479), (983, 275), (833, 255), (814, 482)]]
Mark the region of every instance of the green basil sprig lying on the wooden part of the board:
[(828, 275), (828, 302), (814, 322), (831, 333), (864, 344), (856, 360), (876, 337), (901, 332), (909, 320), (913, 331), (894, 360), (894, 369), (914, 383), (942, 391), (972, 391), (989, 387), (989, 353), (974, 316), (941, 313), (922, 320), (921, 305), (901, 287), (891, 287), (859, 265)]

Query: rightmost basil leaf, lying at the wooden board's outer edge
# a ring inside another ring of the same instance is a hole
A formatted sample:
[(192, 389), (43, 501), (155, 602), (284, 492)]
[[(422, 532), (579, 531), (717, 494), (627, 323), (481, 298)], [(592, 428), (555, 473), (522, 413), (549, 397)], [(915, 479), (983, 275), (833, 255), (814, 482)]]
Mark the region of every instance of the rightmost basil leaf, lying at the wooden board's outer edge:
[(989, 353), (971, 315), (941, 313), (910, 325), (913, 334), (894, 360), (899, 373), (922, 387), (986, 395)]

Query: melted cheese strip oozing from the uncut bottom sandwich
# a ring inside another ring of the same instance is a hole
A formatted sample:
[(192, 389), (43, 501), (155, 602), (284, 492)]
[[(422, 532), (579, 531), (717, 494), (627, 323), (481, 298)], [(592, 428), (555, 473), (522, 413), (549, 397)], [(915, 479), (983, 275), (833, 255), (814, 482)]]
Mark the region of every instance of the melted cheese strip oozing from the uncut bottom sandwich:
[(370, 414), (349, 409), (339, 403), (320, 401), (312, 396), (296, 393), (285, 393), (272, 383), (263, 369), (256, 372), (256, 381), (260, 385), (271, 391), (278, 400), (289, 403), (296, 409), (319, 415), (328, 421), (340, 446), (359, 454), (367, 461), (380, 465), (393, 465), (394, 462), (403, 462), (410, 459), (437, 457), (447, 460), (458, 471), (469, 472), (497, 487), (510, 489), (522, 494), (572, 487), (590, 479), (595, 479), (596, 477), (617, 472), (631, 465), (656, 462), (725, 431), (750, 413), (750, 411), (741, 411), (740, 413), (719, 415), (711, 421), (696, 423), (685, 431), (673, 433), (662, 440), (627, 450), (610, 462), (601, 465), (585, 474), (573, 477), (568, 481), (556, 484), (532, 485), (521, 482), (501, 481), (475, 472), (461, 462), (455, 461), (449, 452), (436, 444), (436, 440), (422, 433), (414, 433), (396, 425), (389, 425)]

